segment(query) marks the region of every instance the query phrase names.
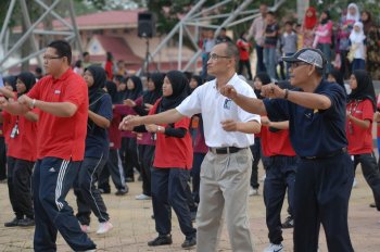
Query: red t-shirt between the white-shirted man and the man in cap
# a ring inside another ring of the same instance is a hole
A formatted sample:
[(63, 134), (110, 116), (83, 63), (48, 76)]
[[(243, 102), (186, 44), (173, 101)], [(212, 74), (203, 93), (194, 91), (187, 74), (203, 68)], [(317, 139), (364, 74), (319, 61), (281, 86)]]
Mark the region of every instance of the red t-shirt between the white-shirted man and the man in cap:
[(295, 156), (295, 152), (290, 142), (289, 130), (280, 129), (276, 133), (269, 131), (269, 127), (262, 126), (261, 131), (263, 154), (265, 156), (287, 155)]

